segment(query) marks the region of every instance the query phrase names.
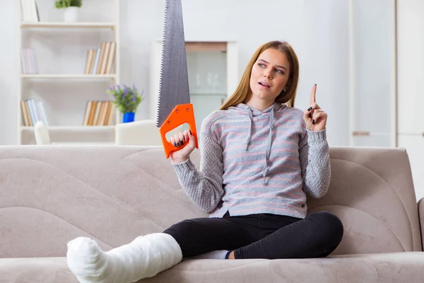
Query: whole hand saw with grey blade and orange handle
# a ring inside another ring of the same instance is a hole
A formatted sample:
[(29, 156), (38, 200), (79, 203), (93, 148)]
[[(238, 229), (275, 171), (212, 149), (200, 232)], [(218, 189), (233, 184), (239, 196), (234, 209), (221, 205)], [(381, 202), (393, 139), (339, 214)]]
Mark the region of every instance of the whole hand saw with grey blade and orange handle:
[(187, 142), (177, 147), (165, 137), (167, 132), (186, 122), (196, 141), (196, 148), (199, 149), (193, 105), (190, 103), (181, 0), (165, 0), (165, 27), (156, 126), (159, 127), (166, 158), (170, 157), (171, 152), (178, 151), (189, 144)]

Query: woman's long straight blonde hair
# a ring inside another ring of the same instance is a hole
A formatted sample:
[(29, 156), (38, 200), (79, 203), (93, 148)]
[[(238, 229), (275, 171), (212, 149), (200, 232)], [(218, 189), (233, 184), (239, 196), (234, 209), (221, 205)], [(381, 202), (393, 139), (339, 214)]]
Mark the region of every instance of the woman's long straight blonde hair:
[(285, 85), (286, 91), (282, 91), (276, 97), (276, 102), (285, 103), (288, 107), (295, 106), (296, 90), (298, 89), (299, 81), (298, 56), (296, 55), (295, 50), (293, 50), (293, 47), (288, 42), (271, 41), (265, 43), (259, 47), (256, 52), (254, 52), (252, 58), (247, 64), (237, 89), (232, 94), (232, 96), (228, 98), (228, 100), (225, 101), (225, 103), (220, 107), (220, 110), (228, 109), (231, 106), (235, 106), (239, 103), (247, 103), (247, 101), (252, 98), (252, 90), (250, 89), (250, 74), (252, 72), (253, 65), (255, 62), (257, 62), (259, 55), (269, 48), (274, 48), (283, 52), (285, 56), (287, 56), (288, 62), (290, 63), (288, 81)]

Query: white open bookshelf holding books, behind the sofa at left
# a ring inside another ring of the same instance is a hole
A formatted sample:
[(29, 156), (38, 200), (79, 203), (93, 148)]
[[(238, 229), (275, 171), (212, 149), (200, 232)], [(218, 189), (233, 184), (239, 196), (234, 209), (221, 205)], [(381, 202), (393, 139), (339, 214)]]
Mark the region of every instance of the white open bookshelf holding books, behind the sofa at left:
[[(88, 100), (112, 100), (107, 88), (119, 83), (119, 0), (83, 1), (77, 22), (64, 22), (54, 1), (37, 1), (40, 21), (25, 21), (19, 7), (18, 144), (35, 144), (33, 125), (25, 125), (21, 101), (42, 102), (52, 142), (114, 142), (114, 124), (83, 126)], [(107, 74), (85, 74), (88, 50), (115, 42), (114, 63)], [(25, 72), (22, 49), (32, 49), (37, 71)], [(31, 72), (30, 72), (31, 73)]]

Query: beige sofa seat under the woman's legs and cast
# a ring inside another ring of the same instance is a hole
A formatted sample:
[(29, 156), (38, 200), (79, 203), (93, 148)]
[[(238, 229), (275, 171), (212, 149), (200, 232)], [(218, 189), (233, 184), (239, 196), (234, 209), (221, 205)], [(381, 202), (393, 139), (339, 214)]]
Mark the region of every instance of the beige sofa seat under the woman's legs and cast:
[[(66, 258), (0, 258), (0, 275), (0, 282), (78, 283)], [(183, 260), (139, 282), (424, 282), (424, 253), (295, 260)]]

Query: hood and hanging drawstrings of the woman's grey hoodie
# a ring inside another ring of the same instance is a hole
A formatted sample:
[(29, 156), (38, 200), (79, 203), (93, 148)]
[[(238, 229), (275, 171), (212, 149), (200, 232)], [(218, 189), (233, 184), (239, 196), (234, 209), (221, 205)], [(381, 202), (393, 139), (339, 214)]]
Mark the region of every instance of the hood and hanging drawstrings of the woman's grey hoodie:
[(268, 139), (266, 139), (266, 151), (265, 151), (265, 163), (262, 171), (264, 177), (264, 185), (267, 185), (266, 173), (269, 172), (269, 155), (271, 154), (271, 144), (272, 144), (272, 131), (273, 131), (273, 120), (275, 112), (282, 112), (287, 105), (281, 103), (273, 103), (269, 108), (266, 108), (264, 111), (252, 108), (245, 103), (239, 103), (233, 107), (228, 108), (230, 112), (235, 112), (237, 115), (247, 115), (249, 117), (249, 133), (247, 134), (245, 141), (245, 151), (249, 151), (250, 139), (252, 138), (252, 124), (253, 117), (261, 115), (269, 115), (269, 134)]

